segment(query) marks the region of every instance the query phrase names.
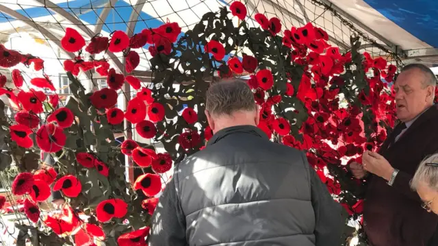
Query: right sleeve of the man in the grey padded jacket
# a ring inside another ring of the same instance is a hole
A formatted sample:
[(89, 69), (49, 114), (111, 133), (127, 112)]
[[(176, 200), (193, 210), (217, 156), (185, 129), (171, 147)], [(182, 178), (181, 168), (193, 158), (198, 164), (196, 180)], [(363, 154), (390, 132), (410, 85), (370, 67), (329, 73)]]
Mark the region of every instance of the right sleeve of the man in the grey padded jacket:
[(312, 168), (311, 201), (315, 211), (315, 246), (339, 246), (344, 233), (346, 210), (331, 197), (326, 185)]

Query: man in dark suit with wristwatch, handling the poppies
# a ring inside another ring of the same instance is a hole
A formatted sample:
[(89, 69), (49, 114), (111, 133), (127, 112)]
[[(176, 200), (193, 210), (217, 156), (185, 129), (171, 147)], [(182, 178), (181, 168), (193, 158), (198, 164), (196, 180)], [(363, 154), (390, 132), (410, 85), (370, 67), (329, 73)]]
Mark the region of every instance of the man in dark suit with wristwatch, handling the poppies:
[(422, 246), (432, 241), (438, 217), (422, 208), (409, 182), (421, 160), (438, 151), (436, 83), (427, 66), (404, 66), (394, 84), (401, 123), (378, 153), (365, 151), (362, 164), (350, 164), (353, 175), (368, 184), (363, 225), (372, 246)]

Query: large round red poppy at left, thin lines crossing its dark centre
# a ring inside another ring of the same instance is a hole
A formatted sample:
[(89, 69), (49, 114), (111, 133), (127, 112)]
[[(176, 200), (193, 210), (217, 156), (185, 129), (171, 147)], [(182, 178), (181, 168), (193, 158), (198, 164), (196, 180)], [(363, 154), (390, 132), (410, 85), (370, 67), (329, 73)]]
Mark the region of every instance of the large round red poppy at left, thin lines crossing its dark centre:
[(66, 139), (62, 128), (53, 124), (42, 125), (36, 132), (36, 144), (48, 153), (60, 151), (66, 145)]

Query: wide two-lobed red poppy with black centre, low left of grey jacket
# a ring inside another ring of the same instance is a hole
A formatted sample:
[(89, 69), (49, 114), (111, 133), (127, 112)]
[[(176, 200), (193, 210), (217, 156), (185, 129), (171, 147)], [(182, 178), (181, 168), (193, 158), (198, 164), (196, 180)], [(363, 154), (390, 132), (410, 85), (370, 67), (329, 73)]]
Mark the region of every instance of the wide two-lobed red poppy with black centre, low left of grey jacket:
[(101, 201), (96, 207), (96, 217), (101, 222), (107, 222), (113, 217), (121, 219), (127, 212), (128, 204), (118, 198)]

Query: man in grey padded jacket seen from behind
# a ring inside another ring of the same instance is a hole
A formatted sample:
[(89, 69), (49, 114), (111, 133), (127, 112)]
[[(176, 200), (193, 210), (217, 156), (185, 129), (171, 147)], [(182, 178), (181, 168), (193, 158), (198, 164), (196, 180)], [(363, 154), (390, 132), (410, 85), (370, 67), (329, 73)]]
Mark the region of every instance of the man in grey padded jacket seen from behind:
[(344, 209), (305, 153), (272, 143), (245, 82), (217, 82), (205, 113), (213, 138), (175, 167), (150, 246), (339, 246)]

